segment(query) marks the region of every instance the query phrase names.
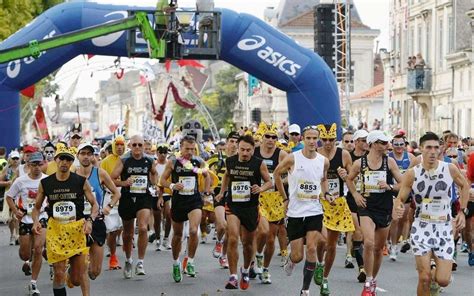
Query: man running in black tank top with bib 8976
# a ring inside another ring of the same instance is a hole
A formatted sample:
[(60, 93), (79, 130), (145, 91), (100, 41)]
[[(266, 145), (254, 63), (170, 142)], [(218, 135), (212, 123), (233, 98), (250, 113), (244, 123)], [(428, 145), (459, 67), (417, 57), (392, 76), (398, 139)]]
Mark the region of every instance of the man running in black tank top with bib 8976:
[[(227, 192), (225, 202), (230, 278), (226, 289), (238, 288), (239, 237), (242, 239), (244, 256), (244, 264), (240, 269), (240, 288), (242, 290), (249, 288), (249, 269), (255, 255), (256, 230), (260, 218), (259, 193), (273, 187), (267, 166), (261, 159), (253, 156), (254, 145), (250, 135), (239, 138), (237, 155), (226, 159), (222, 187), (216, 196), (216, 201), (220, 202)], [(259, 186), (262, 184), (262, 179), (263, 185)]]

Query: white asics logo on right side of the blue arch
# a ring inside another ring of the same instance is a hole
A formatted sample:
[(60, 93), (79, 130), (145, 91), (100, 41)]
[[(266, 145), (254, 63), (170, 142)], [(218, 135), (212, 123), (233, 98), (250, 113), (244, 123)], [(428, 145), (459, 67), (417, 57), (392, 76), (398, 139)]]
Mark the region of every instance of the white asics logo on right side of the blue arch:
[(240, 40), (239, 43), (237, 43), (237, 47), (243, 51), (259, 49), (259, 51), (257, 52), (257, 56), (260, 59), (278, 68), (280, 71), (282, 71), (288, 76), (296, 76), (298, 70), (301, 69), (301, 65), (289, 59), (281, 52), (274, 50), (272, 47), (265, 46), (267, 41), (262, 36), (252, 35), (252, 37), (253, 38), (246, 38)]

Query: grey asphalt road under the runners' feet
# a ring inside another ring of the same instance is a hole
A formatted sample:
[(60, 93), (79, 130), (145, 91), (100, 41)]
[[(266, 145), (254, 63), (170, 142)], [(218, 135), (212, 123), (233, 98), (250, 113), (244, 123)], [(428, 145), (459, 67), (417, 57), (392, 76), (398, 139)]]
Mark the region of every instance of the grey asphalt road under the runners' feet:
[[(21, 271), (22, 262), (18, 257), (18, 247), (9, 246), (8, 228), (0, 226), (0, 295), (25, 295), (29, 278)], [(288, 277), (280, 267), (280, 257), (275, 258), (270, 266), (273, 283), (260, 284), (253, 280), (247, 291), (225, 290), (228, 279), (228, 270), (219, 269), (217, 259), (211, 255), (214, 242), (209, 239), (207, 244), (200, 244), (195, 259), (198, 276), (189, 278), (184, 276), (181, 283), (174, 283), (171, 277), (171, 251), (155, 251), (149, 244), (145, 258), (144, 277), (133, 277), (125, 280), (122, 271), (108, 271), (104, 260), (104, 269), (100, 277), (91, 283), (92, 295), (258, 295), (279, 296), (299, 295), (302, 284), (303, 264), (299, 264), (293, 275)], [(338, 247), (337, 257), (329, 278), (331, 295), (348, 296), (360, 295), (362, 286), (356, 280), (355, 269), (345, 269), (345, 246)], [(277, 246), (278, 252), (278, 246)], [(120, 262), (124, 256), (119, 250)], [(134, 253), (136, 258), (136, 253)], [(412, 254), (400, 254), (397, 262), (384, 259), (381, 273), (378, 277), (378, 295), (416, 295), (417, 274)], [(466, 254), (458, 258), (458, 270), (453, 273), (452, 284), (445, 289), (442, 295), (474, 295), (474, 268), (467, 265)], [(52, 285), (49, 280), (49, 268), (43, 264), (38, 281), (41, 295), (52, 295)], [(319, 295), (319, 288), (311, 285), (311, 295)], [(68, 295), (81, 295), (79, 288), (68, 289)]]

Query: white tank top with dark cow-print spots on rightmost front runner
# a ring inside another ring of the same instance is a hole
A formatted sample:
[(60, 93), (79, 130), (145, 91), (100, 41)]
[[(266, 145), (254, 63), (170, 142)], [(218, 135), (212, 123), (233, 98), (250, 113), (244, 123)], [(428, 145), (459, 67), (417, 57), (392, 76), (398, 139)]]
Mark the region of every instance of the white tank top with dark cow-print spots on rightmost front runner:
[(430, 223), (449, 222), (453, 184), (449, 164), (438, 161), (438, 167), (432, 172), (419, 164), (414, 167), (414, 172), (412, 192), (416, 204), (415, 219)]

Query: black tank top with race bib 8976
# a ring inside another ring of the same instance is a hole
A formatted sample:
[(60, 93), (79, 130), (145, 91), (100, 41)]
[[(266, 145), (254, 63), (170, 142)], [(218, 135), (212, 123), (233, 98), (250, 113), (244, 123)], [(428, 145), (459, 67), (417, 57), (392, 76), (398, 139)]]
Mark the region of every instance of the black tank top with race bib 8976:
[(229, 174), (227, 205), (232, 207), (257, 207), (259, 194), (250, 193), (250, 186), (262, 183), (260, 166), (262, 160), (252, 156), (247, 162), (240, 162), (239, 156), (226, 159)]

